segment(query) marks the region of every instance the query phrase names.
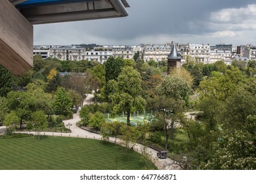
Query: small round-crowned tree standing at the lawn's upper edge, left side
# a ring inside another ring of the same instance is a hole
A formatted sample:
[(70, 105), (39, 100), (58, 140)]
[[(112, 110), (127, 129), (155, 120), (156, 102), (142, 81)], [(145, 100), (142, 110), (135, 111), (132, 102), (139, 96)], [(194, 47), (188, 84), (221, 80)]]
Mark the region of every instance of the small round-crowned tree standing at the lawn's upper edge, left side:
[(32, 120), (35, 124), (35, 128), (37, 129), (37, 138), (38, 138), (38, 140), (40, 140), (41, 139), (41, 131), (43, 131), (43, 129), (45, 129), (48, 125), (45, 112), (43, 112), (43, 110), (38, 110), (38, 111), (33, 112)]

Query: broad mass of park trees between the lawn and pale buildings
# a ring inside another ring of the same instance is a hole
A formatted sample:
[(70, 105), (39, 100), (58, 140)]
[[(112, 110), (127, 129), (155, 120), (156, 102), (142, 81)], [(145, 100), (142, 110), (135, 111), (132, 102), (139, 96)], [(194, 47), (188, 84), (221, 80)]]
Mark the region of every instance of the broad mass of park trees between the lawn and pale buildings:
[[(71, 118), (80, 106), (80, 125), (106, 139), (123, 137), (128, 149), (129, 141), (166, 149), (182, 169), (255, 169), (256, 61), (188, 61), (179, 72), (166, 71), (167, 61), (109, 58), (100, 64), (35, 56), (33, 70), (20, 76), (1, 67), (0, 123), (37, 127), (41, 115), (43, 124), (56, 126), (53, 116)], [(83, 107), (88, 93), (97, 104)], [(151, 123), (132, 127), (137, 111), (151, 111)], [(105, 122), (104, 114), (121, 112), (127, 114), (123, 127)]]

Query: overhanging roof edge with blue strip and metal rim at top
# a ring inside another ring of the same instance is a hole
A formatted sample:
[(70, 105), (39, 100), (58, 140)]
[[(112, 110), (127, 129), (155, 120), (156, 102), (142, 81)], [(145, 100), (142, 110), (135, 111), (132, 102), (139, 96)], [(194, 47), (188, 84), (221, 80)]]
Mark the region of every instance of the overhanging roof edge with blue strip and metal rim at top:
[(127, 16), (126, 0), (9, 0), (31, 24)]

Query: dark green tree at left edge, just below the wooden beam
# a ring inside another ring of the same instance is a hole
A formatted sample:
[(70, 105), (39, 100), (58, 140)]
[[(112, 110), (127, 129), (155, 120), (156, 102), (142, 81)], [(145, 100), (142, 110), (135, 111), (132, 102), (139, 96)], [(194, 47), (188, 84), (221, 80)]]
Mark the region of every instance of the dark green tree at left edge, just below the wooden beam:
[(0, 96), (1, 97), (6, 97), (7, 93), (11, 92), (12, 90), (12, 83), (13, 83), (13, 76), (8, 71), (0, 65)]

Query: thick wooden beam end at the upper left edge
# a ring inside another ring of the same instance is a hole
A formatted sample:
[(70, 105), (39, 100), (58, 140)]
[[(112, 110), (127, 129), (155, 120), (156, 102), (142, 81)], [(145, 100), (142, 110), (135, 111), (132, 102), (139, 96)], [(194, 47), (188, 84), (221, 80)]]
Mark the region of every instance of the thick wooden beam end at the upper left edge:
[(33, 66), (33, 25), (12, 3), (1, 0), (0, 64), (20, 75)]

